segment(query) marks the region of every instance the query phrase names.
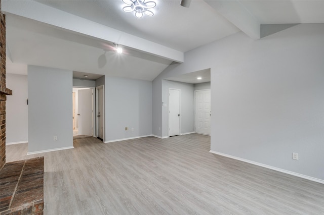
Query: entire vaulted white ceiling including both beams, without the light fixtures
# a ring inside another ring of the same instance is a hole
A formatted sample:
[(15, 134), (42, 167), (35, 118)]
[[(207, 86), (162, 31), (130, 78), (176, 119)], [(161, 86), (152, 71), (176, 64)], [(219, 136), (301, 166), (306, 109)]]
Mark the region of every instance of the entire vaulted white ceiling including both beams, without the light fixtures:
[(153, 80), (181, 63), (183, 52), (238, 31), (259, 39), (261, 24), (324, 23), (324, 1), (192, 0), (184, 8), (180, 0), (164, 0), (153, 17), (141, 19), (123, 6), (121, 0), (3, 0), (7, 56), (19, 65)]

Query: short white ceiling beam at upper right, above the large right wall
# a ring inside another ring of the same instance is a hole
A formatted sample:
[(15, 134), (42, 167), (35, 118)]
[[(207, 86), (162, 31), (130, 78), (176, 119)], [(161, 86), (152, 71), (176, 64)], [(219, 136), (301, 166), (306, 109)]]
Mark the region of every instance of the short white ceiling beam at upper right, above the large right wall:
[(205, 0), (219, 14), (252, 39), (260, 39), (261, 23), (237, 0)]

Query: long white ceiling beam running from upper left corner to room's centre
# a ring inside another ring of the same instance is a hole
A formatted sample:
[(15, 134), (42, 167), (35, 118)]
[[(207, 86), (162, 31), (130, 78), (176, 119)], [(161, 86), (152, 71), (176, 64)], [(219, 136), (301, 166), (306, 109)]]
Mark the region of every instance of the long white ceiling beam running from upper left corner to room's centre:
[(154, 56), (182, 63), (183, 52), (118, 31), (35, 1), (2, 1), (3, 13), (15, 14), (75, 33), (115, 42)]

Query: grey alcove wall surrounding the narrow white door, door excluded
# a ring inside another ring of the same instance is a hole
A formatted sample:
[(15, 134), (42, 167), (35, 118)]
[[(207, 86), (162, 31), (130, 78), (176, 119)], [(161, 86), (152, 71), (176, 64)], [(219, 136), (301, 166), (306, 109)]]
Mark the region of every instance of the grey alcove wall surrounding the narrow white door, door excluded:
[(187, 84), (176, 81), (162, 81), (162, 101), (167, 106), (162, 108), (163, 133), (162, 137), (169, 136), (169, 88), (180, 89), (180, 134), (194, 132), (194, 87), (193, 84)]

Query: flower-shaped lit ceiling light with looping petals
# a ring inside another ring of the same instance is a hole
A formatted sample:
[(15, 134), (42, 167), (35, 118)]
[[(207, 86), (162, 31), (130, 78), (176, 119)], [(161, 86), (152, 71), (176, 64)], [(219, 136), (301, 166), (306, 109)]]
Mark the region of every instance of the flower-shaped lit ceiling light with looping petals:
[(153, 16), (153, 12), (148, 10), (151, 8), (154, 8), (156, 6), (156, 3), (153, 1), (145, 2), (145, 0), (122, 0), (126, 5), (126, 7), (123, 8), (124, 12), (133, 12), (135, 11), (135, 16), (137, 18), (142, 18), (143, 14), (147, 16)]

